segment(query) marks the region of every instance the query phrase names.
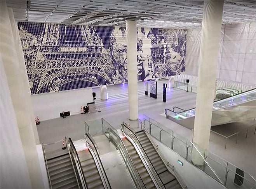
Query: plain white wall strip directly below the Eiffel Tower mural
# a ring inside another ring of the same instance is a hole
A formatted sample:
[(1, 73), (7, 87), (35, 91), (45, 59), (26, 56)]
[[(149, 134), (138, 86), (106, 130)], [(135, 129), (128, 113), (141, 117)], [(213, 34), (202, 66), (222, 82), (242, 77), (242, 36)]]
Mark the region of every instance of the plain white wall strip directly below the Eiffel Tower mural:
[[(98, 94), (99, 95), (99, 94)], [(81, 106), (93, 102), (92, 88), (31, 95), (34, 114), (40, 121), (60, 117), (60, 112), (79, 114)]]

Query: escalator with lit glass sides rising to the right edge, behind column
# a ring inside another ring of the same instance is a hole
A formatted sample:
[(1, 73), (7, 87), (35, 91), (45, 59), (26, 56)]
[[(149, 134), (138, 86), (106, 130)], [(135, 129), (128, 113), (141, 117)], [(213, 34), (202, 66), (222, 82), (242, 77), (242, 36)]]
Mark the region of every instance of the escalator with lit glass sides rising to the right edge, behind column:
[[(176, 110), (178, 109), (178, 110)], [(230, 96), (213, 102), (211, 126), (243, 121), (256, 117), (256, 89)], [(184, 110), (174, 106), (165, 109), (166, 118), (185, 126), (194, 128), (195, 108)]]

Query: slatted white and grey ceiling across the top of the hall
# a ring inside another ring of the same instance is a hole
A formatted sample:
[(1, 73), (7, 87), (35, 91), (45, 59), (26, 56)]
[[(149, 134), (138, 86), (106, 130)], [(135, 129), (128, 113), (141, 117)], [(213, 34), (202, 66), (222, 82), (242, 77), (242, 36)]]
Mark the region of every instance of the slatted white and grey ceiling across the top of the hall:
[[(6, 0), (17, 21), (143, 27), (201, 26), (203, 0)], [(223, 24), (256, 21), (256, 0), (225, 0)]]

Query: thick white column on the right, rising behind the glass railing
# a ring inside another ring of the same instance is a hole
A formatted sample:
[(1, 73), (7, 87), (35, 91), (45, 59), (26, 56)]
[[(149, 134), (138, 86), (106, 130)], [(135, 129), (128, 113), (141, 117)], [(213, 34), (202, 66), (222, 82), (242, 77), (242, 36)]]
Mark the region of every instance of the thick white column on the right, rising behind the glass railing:
[[(208, 149), (209, 147), (222, 12), (223, 0), (204, 1), (199, 79), (193, 131), (193, 141), (202, 149)], [(194, 152), (196, 150), (193, 150), (192, 160), (200, 165)]]

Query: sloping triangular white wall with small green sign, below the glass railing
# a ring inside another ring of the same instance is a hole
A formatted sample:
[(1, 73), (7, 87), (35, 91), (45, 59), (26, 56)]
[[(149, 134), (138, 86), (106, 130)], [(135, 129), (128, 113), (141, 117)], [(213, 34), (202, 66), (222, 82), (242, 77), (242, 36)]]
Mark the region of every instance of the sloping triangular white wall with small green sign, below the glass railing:
[[(219, 182), (209, 177), (202, 170), (186, 161), (183, 157), (167, 148), (158, 140), (155, 139), (155, 143), (158, 145), (158, 148), (161, 150), (161, 152), (165, 155), (167, 161), (169, 161), (170, 164), (175, 167), (176, 172), (178, 172), (188, 188), (225, 188), (219, 184)], [(183, 162), (183, 166), (178, 163), (178, 160)]]

